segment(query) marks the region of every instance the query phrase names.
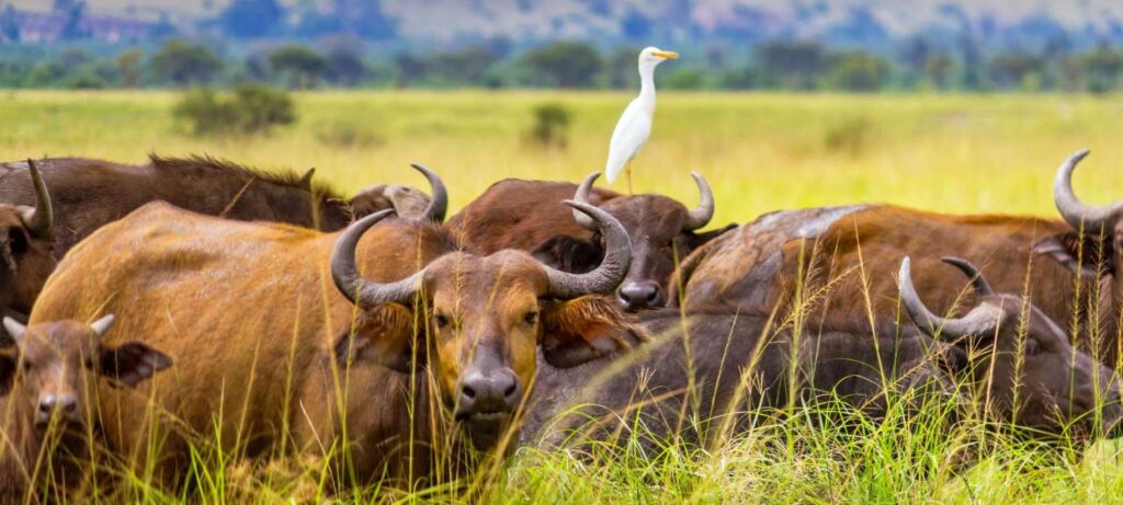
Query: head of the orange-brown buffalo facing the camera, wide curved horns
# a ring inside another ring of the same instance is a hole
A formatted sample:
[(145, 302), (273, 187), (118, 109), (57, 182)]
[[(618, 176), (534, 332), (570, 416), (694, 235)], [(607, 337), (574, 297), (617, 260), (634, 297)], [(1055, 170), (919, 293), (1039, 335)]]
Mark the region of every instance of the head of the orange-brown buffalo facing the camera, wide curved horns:
[[(643, 336), (614, 303), (586, 296), (611, 293), (624, 278), (631, 263), (628, 233), (608, 212), (567, 203), (587, 214), (604, 240), (600, 266), (584, 274), (557, 270), (519, 250), (456, 251), (404, 279), (375, 283), (358, 274), (355, 248), (391, 211), (359, 220), (336, 242), (336, 286), (364, 313), (378, 314), (364, 321), (374, 324), (368, 333), (424, 346), (399, 347), (403, 359), (390, 361), (408, 369), (428, 357), (444, 403), (477, 448), (491, 448), (510, 426), (533, 384), (538, 349), (551, 365), (569, 367), (629, 348)], [(402, 328), (413, 321), (419, 323)]]

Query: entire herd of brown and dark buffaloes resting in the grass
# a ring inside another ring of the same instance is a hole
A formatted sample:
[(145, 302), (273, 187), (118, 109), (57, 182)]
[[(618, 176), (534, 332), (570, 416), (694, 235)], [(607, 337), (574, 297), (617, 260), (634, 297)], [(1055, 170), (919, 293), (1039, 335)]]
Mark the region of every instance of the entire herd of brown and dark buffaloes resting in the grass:
[(81, 496), (104, 460), (192, 486), (200, 448), (436, 481), (520, 446), (709, 444), (827, 398), (1114, 437), (1123, 202), (1076, 196), (1086, 155), (1057, 173), (1060, 220), (725, 227), (697, 173), (693, 206), (593, 173), (501, 181), (446, 221), (422, 165), (430, 194), (348, 199), (206, 156), (0, 164), (0, 503)]

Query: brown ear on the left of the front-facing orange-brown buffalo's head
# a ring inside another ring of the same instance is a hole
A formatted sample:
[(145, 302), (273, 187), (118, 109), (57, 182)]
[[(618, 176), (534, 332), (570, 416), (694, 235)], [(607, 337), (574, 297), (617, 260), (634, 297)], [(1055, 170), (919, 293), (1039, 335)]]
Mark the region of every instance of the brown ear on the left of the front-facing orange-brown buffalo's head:
[(426, 366), (426, 349), (421, 345), (422, 332), (416, 325), (413, 311), (396, 303), (365, 311), (355, 324), (354, 334), (347, 331), (336, 341), (336, 364), (348, 368), (356, 361), (372, 360), (403, 374), (421, 370)]

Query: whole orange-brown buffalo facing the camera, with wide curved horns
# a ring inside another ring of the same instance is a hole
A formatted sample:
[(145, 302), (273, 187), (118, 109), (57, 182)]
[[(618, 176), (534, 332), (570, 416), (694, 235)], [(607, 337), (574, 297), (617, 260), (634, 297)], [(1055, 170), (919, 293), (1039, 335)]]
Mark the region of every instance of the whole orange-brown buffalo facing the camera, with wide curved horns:
[[(490, 449), (533, 383), (539, 348), (565, 367), (642, 338), (615, 304), (585, 296), (623, 278), (627, 232), (600, 209), (572, 205), (605, 240), (602, 264), (585, 274), (522, 251), (477, 255), (431, 220), (384, 219), (389, 211), (323, 235), (153, 203), (72, 249), (31, 321), (111, 311), (108, 341), (135, 336), (176, 360), (152, 383), (159, 410), (176, 420), (155, 430), (168, 435), (164, 479), (182, 477), (185, 439), (220, 435), (223, 449), (267, 456), (290, 426), (301, 449), (357, 443), (353, 475), (377, 478), (384, 465), (444, 447), (428, 423), (403, 429), (440, 417), (426, 408), (450, 411), (460, 428), (453, 434)], [(104, 417), (116, 420), (106, 437), (143, 458), (149, 431), (137, 426), (150, 413), (102, 393)], [(400, 450), (411, 442), (417, 450)]]

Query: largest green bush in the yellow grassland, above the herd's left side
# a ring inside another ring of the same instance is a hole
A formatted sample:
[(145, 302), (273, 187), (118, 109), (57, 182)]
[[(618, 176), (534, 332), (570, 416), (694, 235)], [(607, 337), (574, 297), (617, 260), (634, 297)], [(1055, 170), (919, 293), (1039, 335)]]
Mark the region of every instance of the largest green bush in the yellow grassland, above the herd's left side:
[(292, 98), (263, 84), (241, 84), (230, 94), (211, 89), (189, 91), (172, 110), (193, 135), (267, 134), (296, 120)]

